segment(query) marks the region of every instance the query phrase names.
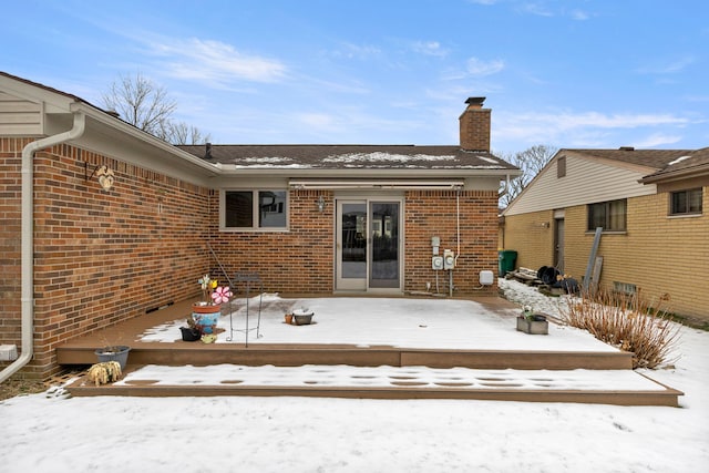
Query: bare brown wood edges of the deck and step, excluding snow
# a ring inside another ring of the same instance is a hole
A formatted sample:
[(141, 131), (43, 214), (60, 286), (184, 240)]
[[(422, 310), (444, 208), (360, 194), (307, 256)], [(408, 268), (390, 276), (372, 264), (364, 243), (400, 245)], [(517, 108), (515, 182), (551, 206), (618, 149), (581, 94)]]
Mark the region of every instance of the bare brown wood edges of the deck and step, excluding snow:
[[(504, 299), (491, 298), (490, 307), (508, 310)], [(514, 306), (512, 306), (514, 307)], [(449, 350), (412, 349), (391, 346), (353, 345), (289, 345), (289, 343), (210, 343), (201, 342), (135, 342), (145, 330), (161, 323), (185, 317), (191, 312), (191, 302), (183, 301), (129, 320), (85, 337), (71, 340), (56, 349), (62, 366), (85, 367), (94, 363), (94, 350), (111, 345), (131, 346), (126, 373), (144, 366), (207, 367), (236, 364), (246, 367), (428, 367), (450, 369), (495, 370), (630, 370), (631, 354), (615, 351), (565, 352), (565, 351), (511, 351), (511, 350)], [(639, 376), (639, 374), (637, 374)], [(238, 383), (223, 385), (157, 385), (154, 382), (137, 382), (129, 385), (94, 387), (79, 379), (68, 389), (72, 395), (305, 395), (373, 399), (480, 399), (536, 402), (585, 402), (621, 405), (678, 405), (682, 393), (671, 388), (651, 391), (563, 391), (524, 389), (470, 389), (440, 385), (433, 389), (417, 385), (392, 385), (390, 388), (362, 388), (327, 385), (276, 385), (249, 387)]]

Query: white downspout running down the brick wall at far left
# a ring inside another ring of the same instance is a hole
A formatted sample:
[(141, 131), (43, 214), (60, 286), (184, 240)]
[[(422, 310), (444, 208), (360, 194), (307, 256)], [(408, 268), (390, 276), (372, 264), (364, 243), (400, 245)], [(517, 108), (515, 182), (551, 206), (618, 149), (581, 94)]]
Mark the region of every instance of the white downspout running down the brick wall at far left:
[(22, 353), (0, 371), (0, 383), (22, 369), (32, 360), (34, 353), (34, 153), (60, 143), (75, 140), (84, 134), (86, 116), (83, 112), (74, 112), (74, 125), (71, 130), (53, 136), (29, 143), (22, 148), (22, 220), (21, 220), (21, 327)]

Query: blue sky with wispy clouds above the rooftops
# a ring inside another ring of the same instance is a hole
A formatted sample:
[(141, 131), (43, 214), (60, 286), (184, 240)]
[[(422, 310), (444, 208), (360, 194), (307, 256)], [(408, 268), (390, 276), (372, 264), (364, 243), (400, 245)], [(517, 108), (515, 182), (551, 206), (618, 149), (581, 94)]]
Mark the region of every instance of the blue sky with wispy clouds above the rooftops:
[(705, 0), (23, 0), (0, 70), (102, 106), (120, 74), (214, 143), (709, 146)]

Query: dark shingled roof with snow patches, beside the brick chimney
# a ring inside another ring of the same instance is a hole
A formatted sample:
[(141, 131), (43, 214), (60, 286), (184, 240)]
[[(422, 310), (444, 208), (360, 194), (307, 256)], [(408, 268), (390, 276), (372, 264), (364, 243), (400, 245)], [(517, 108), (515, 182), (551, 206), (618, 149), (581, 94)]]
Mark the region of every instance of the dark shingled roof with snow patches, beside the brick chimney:
[[(179, 145), (205, 157), (205, 145)], [(209, 162), (244, 168), (516, 169), (489, 152), (417, 145), (212, 145)]]

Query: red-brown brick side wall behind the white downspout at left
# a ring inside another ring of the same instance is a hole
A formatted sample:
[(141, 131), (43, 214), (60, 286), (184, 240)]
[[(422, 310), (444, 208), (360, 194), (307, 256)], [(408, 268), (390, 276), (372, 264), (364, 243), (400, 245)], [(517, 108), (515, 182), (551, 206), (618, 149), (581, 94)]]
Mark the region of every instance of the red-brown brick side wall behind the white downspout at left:
[[(0, 341), (20, 345), (20, 162), (27, 140), (0, 140), (2, 325)], [(84, 163), (88, 166), (84, 167)], [(104, 192), (99, 164), (114, 169)], [(145, 313), (198, 291), (207, 270), (214, 192), (56, 145), (34, 158), (34, 359), (24, 370), (56, 370), (54, 348), (73, 337)], [(88, 169), (88, 171), (86, 171)]]

